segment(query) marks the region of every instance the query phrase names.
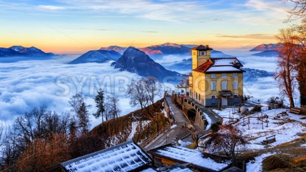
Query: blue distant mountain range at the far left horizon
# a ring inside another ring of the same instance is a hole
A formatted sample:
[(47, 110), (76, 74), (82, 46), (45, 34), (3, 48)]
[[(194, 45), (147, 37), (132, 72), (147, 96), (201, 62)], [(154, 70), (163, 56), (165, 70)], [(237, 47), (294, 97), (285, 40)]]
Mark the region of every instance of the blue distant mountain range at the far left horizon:
[(23, 47), (23, 46), (12, 46), (9, 48), (0, 48), (0, 57), (13, 57), (13, 56), (23, 56), (23, 57), (50, 57), (55, 56), (51, 52), (43, 52), (41, 49), (36, 47)]

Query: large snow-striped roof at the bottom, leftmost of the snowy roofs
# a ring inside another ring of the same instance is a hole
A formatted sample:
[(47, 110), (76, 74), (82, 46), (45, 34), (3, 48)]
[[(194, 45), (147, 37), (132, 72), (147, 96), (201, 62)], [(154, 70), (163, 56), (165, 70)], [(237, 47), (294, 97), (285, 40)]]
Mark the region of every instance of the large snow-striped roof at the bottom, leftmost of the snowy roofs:
[(152, 159), (134, 141), (126, 141), (61, 165), (66, 171), (131, 171), (151, 162)]

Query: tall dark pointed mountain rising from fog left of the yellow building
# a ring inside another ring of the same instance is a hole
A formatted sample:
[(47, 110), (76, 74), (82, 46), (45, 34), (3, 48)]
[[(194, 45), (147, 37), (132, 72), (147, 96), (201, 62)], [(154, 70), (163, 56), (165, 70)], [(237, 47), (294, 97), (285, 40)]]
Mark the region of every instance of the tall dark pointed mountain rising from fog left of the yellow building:
[(112, 66), (121, 71), (137, 73), (140, 76), (154, 76), (160, 81), (177, 82), (182, 77), (181, 74), (167, 70), (154, 62), (146, 53), (135, 47), (127, 48), (121, 58), (112, 63)]

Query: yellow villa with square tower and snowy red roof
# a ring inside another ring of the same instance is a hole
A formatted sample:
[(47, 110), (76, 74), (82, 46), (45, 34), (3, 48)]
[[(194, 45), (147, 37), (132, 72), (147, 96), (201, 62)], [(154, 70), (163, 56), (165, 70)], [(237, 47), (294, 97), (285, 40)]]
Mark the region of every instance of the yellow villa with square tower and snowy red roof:
[(190, 97), (204, 106), (241, 104), (243, 65), (237, 58), (211, 58), (208, 45), (192, 50), (192, 74), (189, 75)]

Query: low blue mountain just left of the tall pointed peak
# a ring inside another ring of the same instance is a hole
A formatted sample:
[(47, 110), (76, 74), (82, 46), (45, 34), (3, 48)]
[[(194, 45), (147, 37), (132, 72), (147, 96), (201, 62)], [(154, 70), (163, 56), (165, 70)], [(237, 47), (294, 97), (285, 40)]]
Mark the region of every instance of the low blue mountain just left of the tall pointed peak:
[(121, 54), (111, 50), (91, 50), (81, 55), (79, 58), (74, 59), (69, 64), (80, 63), (105, 63), (109, 61), (116, 61), (120, 58)]

